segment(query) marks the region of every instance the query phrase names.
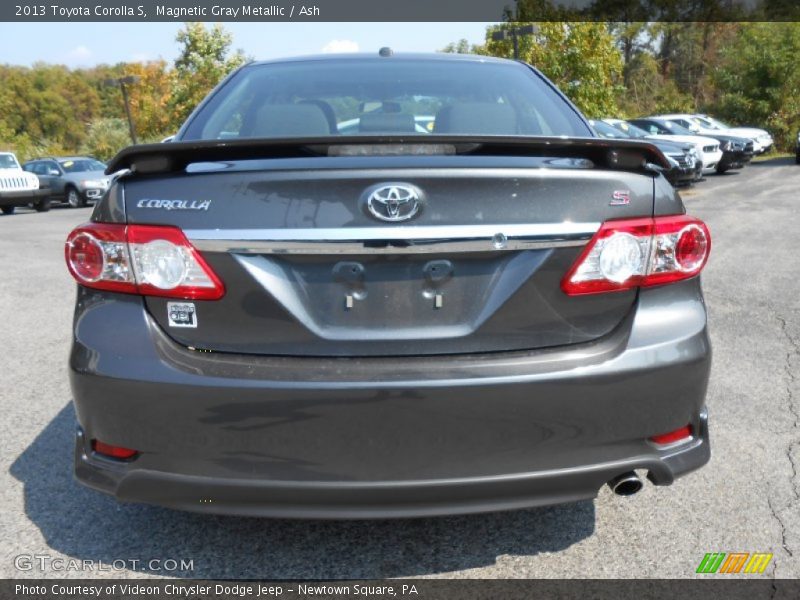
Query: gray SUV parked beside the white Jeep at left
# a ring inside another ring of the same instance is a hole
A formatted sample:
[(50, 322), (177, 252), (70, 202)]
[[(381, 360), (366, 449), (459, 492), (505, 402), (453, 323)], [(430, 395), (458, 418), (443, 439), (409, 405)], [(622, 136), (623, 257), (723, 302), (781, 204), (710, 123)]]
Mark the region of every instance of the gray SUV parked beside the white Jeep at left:
[(29, 160), (22, 168), (34, 173), (42, 187), (50, 188), (50, 200), (72, 208), (97, 201), (110, 185), (106, 165), (91, 156), (62, 156)]

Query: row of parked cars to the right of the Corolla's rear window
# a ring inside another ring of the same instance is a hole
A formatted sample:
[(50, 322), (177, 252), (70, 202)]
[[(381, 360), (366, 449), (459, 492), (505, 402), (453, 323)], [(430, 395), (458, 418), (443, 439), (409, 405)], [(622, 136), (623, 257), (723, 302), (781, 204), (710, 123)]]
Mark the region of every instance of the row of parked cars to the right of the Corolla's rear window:
[[(708, 115), (655, 115), (628, 121), (608, 118), (590, 123), (602, 137), (653, 142), (672, 165), (665, 175), (673, 185), (691, 184), (704, 174), (741, 169), (774, 143), (763, 129), (729, 127)], [(798, 148), (800, 162), (800, 137)]]

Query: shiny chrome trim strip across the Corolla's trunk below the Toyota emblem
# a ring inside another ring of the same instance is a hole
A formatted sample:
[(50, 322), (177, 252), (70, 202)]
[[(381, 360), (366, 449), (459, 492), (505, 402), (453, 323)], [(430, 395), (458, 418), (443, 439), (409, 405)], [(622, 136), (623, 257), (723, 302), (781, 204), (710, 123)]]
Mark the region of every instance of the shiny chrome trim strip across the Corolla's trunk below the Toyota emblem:
[(430, 254), (582, 246), (600, 223), (190, 229), (198, 250), (234, 254)]

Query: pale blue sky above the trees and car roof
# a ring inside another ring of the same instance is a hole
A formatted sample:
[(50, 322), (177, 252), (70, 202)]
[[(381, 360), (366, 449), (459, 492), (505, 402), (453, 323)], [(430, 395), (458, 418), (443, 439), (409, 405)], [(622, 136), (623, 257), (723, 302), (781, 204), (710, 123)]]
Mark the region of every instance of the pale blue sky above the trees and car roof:
[[(321, 52), (435, 52), (466, 38), (483, 42), (488, 23), (223, 23), (233, 48), (257, 60)], [(69, 67), (171, 61), (176, 23), (0, 23), (0, 63)]]

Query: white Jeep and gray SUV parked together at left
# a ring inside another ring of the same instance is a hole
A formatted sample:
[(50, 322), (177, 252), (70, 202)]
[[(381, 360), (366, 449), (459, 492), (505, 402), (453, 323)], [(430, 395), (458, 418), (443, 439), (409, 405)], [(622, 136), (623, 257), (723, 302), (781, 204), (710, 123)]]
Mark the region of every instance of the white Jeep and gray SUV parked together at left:
[(11, 152), (0, 152), (0, 210), (18, 206), (50, 210), (53, 202), (72, 208), (99, 200), (109, 188), (106, 165), (91, 156), (35, 158), (20, 166)]

